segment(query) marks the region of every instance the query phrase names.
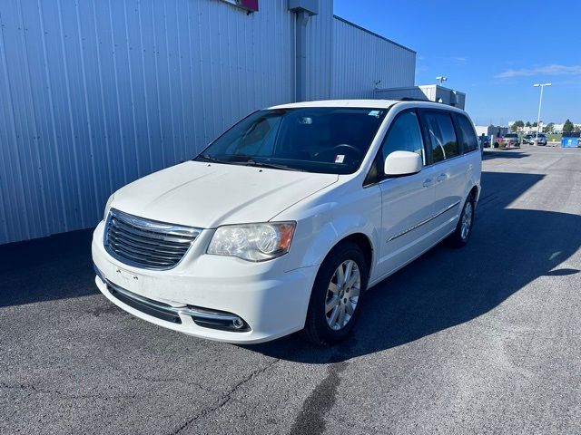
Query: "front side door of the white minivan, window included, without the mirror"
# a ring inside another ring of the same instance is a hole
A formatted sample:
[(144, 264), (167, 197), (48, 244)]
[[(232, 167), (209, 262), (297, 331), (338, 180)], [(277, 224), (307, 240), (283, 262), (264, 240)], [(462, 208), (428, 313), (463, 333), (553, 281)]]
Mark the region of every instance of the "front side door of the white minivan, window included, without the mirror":
[[(422, 156), (424, 167), (416, 174), (386, 177), (383, 162), (393, 151), (412, 151)], [(379, 150), (381, 181), (381, 245), (379, 275), (405, 266), (436, 243), (434, 169), (427, 165), (419, 116), (403, 111), (392, 121)]]

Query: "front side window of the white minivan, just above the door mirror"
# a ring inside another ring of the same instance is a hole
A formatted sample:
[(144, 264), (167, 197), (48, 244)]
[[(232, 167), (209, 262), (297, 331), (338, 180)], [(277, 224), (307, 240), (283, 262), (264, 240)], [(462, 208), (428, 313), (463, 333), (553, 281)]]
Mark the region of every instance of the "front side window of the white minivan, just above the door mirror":
[(381, 146), (381, 161), (385, 161), (393, 151), (415, 152), (425, 161), (418, 116), (413, 111), (400, 114), (389, 127), (388, 135)]

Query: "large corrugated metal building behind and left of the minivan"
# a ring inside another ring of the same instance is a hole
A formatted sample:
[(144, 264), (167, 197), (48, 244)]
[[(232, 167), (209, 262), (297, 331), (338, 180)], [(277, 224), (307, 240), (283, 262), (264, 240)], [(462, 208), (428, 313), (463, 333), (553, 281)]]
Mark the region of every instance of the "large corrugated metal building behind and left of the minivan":
[(250, 111), (414, 84), (332, 0), (2, 0), (0, 30), (0, 244), (93, 227)]

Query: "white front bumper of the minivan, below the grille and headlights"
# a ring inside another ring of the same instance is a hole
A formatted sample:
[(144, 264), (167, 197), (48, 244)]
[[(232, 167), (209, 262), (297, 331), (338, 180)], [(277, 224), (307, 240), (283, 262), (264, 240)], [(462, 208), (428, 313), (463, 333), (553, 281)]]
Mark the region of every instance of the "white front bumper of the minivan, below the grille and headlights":
[[(209, 237), (212, 234), (202, 232), (178, 266), (156, 271), (128, 266), (110, 256), (103, 247), (102, 222), (94, 231), (92, 244), (94, 265), (99, 271), (95, 283), (113, 304), (136, 317), (211, 340), (261, 343), (304, 327), (316, 266), (285, 272), (283, 264), (288, 265), (288, 259), (282, 264), (277, 260), (250, 263), (204, 255)], [(114, 287), (126, 294), (112, 291)], [(133, 304), (140, 298), (143, 304)], [(157, 308), (165, 308), (170, 315), (149, 311), (148, 302), (158, 303)], [(202, 326), (192, 309), (234, 315), (245, 326), (240, 331)], [(172, 313), (179, 316), (178, 322)]]

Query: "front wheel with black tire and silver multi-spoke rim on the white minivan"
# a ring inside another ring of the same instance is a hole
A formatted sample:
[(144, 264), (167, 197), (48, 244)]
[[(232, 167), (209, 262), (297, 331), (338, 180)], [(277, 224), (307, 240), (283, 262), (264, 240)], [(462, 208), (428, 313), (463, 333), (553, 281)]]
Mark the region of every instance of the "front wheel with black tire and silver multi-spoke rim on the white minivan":
[[(343, 275), (347, 275), (348, 266), (351, 270), (350, 277), (355, 282), (338, 287), (339, 268), (341, 267)], [(304, 338), (310, 343), (322, 346), (338, 343), (347, 337), (359, 317), (361, 296), (364, 295), (368, 282), (369, 265), (361, 248), (351, 242), (342, 242), (334, 247), (320, 265), (312, 287), (307, 319), (302, 331)], [(358, 285), (358, 294), (353, 295)], [(328, 304), (329, 310), (326, 309)]]

